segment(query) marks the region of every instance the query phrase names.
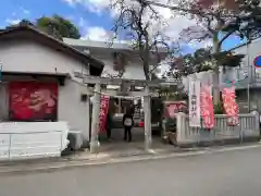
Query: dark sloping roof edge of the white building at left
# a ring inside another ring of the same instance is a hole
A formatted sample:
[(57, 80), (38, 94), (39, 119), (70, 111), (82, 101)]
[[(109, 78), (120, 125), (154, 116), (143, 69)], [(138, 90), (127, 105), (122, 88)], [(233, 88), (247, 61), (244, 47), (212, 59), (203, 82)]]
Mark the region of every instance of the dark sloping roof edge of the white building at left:
[(0, 41), (13, 39), (33, 39), (57, 51), (61, 51), (72, 58), (75, 58), (90, 68), (90, 75), (100, 76), (103, 71), (104, 63), (92, 58), (90, 54), (82, 52), (61, 40), (37, 29), (34, 26), (21, 24), (0, 30)]

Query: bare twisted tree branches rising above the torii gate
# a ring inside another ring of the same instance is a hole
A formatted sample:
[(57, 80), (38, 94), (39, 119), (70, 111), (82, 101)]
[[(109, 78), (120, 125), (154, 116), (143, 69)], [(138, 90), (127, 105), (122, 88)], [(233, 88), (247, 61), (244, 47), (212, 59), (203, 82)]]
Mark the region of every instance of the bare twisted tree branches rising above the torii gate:
[[(139, 58), (142, 61), (146, 79), (151, 79), (151, 74), (162, 60), (159, 45), (166, 48), (164, 52), (171, 52), (167, 41), (163, 37), (160, 39), (161, 34), (150, 32), (154, 22), (163, 24), (161, 16), (152, 5), (144, 2), (144, 0), (136, 0), (135, 5), (128, 5), (127, 0), (115, 0), (114, 2), (112, 7), (120, 8), (120, 14), (112, 29), (121, 38), (123, 35), (132, 37), (134, 41), (133, 48), (138, 50)], [(151, 53), (157, 57), (157, 65), (152, 69), (149, 65)]]

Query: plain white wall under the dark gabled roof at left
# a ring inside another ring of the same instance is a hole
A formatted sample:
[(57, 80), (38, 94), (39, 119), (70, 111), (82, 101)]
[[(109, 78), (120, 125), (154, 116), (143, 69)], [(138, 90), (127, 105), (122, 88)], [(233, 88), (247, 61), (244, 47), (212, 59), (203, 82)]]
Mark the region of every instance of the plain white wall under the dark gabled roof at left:
[[(73, 130), (82, 131), (88, 138), (89, 108), (87, 102), (80, 101), (80, 94), (84, 93), (82, 81), (73, 76), (73, 72), (88, 73), (84, 64), (59, 51), (27, 40), (1, 44), (0, 62), (2, 70), (10, 72), (70, 73), (72, 79), (66, 79), (65, 86), (59, 86), (58, 118), (67, 121)], [(8, 115), (8, 91), (4, 90), (4, 86), (0, 84), (0, 118)]]

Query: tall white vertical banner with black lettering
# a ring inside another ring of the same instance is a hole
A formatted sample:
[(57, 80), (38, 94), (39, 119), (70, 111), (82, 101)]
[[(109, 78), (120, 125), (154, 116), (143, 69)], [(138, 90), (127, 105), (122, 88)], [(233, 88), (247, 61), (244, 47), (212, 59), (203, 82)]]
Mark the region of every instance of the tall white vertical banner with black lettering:
[(189, 81), (189, 126), (200, 127), (200, 82)]

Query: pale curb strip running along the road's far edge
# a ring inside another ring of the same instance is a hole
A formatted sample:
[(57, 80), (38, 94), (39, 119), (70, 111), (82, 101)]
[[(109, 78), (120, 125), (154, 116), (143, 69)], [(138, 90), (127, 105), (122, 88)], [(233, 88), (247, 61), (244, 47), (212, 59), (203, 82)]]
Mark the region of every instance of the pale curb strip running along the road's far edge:
[(160, 154), (160, 155), (146, 155), (146, 156), (133, 156), (133, 157), (121, 157), (121, 158), (111, 158), (103, 160), (73, 160), (66, 162), (52, 162), (42, 163), (34, 167), (0, 167), (1, 175), (10, 175), (10, 174), (29, 174), (29, 173), (41, 173), (47, 172), (51, 173), (59, 170), (65, 169), (74, 169), (74, 168), (83, 168), (83, 167), (92, 167), (92, 166), (104, 166), (104, 164), (114, 164), (114, 163), (127, 163), (127, 162), (137, 162), (137, 161), (148, 161), (148, 160), (159, 160), (159, 159), (167, 159), (167, 158), (183, 158), (190, 156), (200, 156), (206, 154), (214, 154), (214, 152), (225, 152), (225, 151), (234, 151), (234, 150), (244, 150), (244, 149), (252, 149), (261, 147), (260, 144), (252, 146), (239, 146), (239, 147), (227, 147), (227, 148), (219, 148), (219, 149), (202, 149), (198, 151), (187, 151), (187, 152), (172, 152), (172, 154)]

